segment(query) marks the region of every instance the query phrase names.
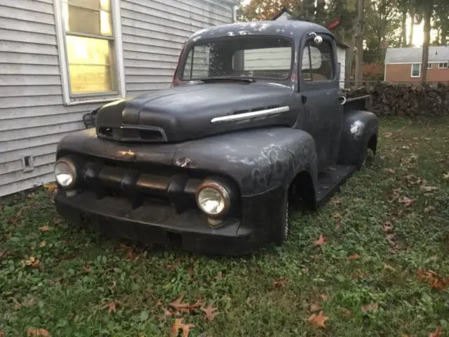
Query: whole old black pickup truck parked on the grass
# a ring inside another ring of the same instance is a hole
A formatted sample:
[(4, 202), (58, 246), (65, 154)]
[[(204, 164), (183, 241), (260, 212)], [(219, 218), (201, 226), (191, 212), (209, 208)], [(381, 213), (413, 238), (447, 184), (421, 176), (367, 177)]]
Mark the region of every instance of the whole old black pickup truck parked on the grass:
[(301, 21), (196, 32), (171, 88), (103, 105), (60, 141), (58, 213), (202, 253), (282, 244), (289, 201), (321, 206), (376, 151), (377, 117), (342, 95), (335, 46)]

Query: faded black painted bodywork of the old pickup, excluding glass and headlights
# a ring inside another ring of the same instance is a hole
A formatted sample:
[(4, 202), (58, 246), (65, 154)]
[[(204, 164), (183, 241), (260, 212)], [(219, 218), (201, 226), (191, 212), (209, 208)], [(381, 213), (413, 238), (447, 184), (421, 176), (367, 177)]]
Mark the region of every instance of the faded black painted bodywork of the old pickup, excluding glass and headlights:
[[(177, 234), (182, 249), (192, 251), (244, 253), (270, 241), (279, 225), (281, 200), (295, 176), (307, 172), (313, 185), (310, 199), (321, 204), (354, 173), (368, 141), (378, 132), (377, 117), (363, 110), (365, 98), (340, 105), (337, 76), (330, 81), (304, 81), (298, 69), (309, 32), (326, 35), (335, 47), (327, 29), (309, 22), (246, 22), (197, 32), (187, 47), (204, 39), (248, 34), (290, 37), (295, 46), (295, 76), (285, 81), (176, 86), (119, 100), (98, 111), (96, 129), (72, 133), (60, 141), (58, 157), (79, 154), (100, 165), (105, 161), (112, 167), (126, 167), (129, 173), (107, 169), (100, 180), (118, 189), (126, 185), (129, 190), (122, 192), (129, 194), (135, 187), (163, 195), (171, 192), (176, 198), (171, 200), (178, 205), (175, 210), (142, 202), (136, 206), (131, 197), (99, 198), (81, 189), (75, 194), (58, 191), (58, 211), (69, 220), (88, 219), (144, 242), (167, 243), (170, 235)], [(336, 62), (334, 48), (335, 70)], [(210, 123), (214, 117), (281, 106), (290, 110), (241, 123)], [(107, 139), (102, 128), (131, 128), (128, 136), (108, 135), (121, 140), (140, 138), (132, 142)], [(148, 138), (142, 138), (140, 131), (148, 132)], [(337, 169), (330, 168), (336, 163), (340, 164)], [(166, 182), (161, 184), (153, 181), (157, 175), (147, 174), (139, 183), (139, 175), (147, 170), (170, 171), (170, 178), (161, 178)], [(206, 176), (227, 178), (239, 189), (239, 216), (226, 218), (218, 228), (208, 227), (206, 216), (195, 207), (182, 207), (183, 196), (192, 197), (201, 181), (197, 179)], [(326, 178), (320, 180), (320, 176)], [(189, 181), (196, 183), (188, 185)]]

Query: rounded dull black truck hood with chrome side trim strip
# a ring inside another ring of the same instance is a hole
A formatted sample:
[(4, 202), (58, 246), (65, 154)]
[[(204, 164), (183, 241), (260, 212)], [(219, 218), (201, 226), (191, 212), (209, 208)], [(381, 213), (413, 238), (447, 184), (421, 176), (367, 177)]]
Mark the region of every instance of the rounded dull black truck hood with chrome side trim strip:
[(98, 110), (96, 132), (119, 141), (165, 143), (244, 128), (293, 126), (294, 95), (279, 84), (176, 86), (104, 105)]

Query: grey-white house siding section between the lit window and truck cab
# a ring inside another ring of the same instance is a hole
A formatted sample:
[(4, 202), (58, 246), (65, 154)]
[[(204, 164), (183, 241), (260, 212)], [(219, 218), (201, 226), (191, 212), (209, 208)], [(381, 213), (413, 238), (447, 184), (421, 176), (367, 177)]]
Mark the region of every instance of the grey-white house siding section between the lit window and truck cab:
[(205, 27), (232, 22), (232, 4), (216, 0), (123, 0), (127, 95), (167, 88), (183, 44)]

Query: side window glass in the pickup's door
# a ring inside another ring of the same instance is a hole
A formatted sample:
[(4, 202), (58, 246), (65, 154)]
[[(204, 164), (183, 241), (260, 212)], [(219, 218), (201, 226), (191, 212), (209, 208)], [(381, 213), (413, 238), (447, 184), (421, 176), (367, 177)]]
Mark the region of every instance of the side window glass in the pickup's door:
[(302, 78), (304, 81), (330, 81), (334, 78), (332, 46), (323, 41), (319, 46), (313, 40), (307, 41), (302, 51)]

